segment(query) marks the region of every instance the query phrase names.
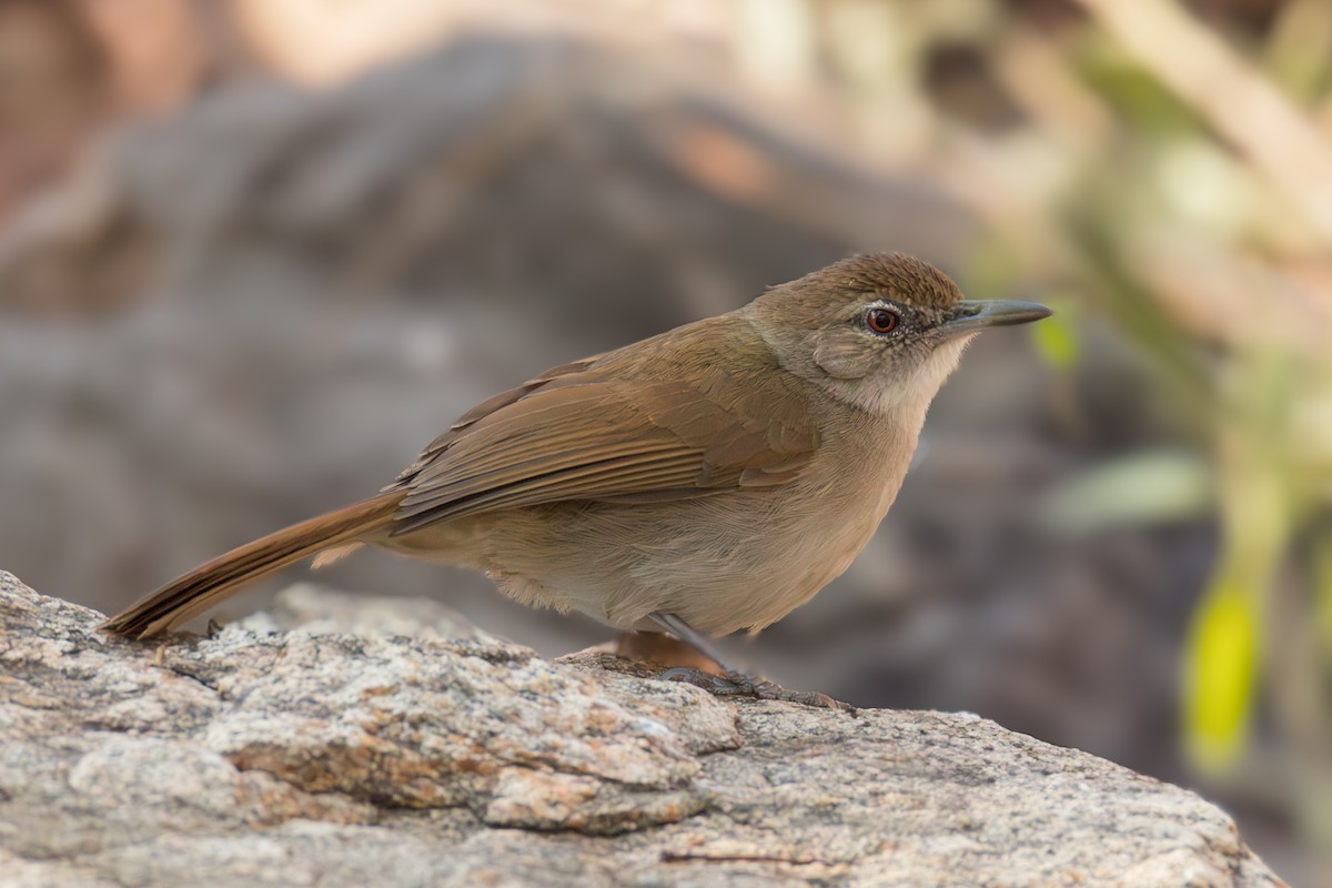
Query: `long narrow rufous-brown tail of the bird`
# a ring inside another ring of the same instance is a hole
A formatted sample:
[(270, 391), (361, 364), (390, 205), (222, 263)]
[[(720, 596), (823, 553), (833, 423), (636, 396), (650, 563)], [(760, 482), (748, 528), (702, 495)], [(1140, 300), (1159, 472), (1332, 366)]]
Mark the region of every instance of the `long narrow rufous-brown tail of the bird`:
[(401, 499), (401, 493), (382, 494), (233, 549), (116, 614), (101, 628), (131, 638), (160, 635), (261, 576), (374, 530), (393, 517)]

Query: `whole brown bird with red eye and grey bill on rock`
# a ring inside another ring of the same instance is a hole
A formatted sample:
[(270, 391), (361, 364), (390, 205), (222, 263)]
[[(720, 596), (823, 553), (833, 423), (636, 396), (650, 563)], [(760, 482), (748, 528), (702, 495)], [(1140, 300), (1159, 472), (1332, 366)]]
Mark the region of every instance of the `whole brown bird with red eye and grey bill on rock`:
[(361, 545), (485, 571), (525, 604), (666, 631), (715, 692), (830, 706), (730, 667), (842, 574), (972, 335), (1050, 314), (963, 300), (931, 265), (856, 256), (742, 309), (574, 361), (465, 413), (384, 491), (241, 546), (103, 626), (159, 635), (309, 555)]

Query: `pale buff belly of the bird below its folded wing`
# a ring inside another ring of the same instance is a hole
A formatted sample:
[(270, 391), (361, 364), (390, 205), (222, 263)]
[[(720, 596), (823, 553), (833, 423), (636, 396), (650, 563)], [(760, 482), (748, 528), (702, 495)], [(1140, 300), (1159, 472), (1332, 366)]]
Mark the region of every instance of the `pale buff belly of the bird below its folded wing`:
[(878, 494), (830, 502), (826, 491), (757, 490), (650, 509), (561, 503), (446, 522), (392, 547), (485, 570), (526, 604), (623, 630), (647, 628), (646, 618), (665, 611), (723, 635), (781, 619), (840, 575), (882, 517)]

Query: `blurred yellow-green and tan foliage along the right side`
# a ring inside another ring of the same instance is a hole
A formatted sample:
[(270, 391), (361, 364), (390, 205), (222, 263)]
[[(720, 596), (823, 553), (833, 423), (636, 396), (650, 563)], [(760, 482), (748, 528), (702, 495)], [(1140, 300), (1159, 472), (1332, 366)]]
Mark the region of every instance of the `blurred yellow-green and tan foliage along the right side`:
[[(1212, 515), (1184, 752), (1232, 788), (1291, 763), (1277, 792), (1328, 843), (1332, 4), (815, 7), (860, 136), (988, 222), (967, 286), (1078, 294), (1155, 367), (1171, 449), (1095, 465), (1048, 515), (1080, 533)], [(875, 29), (894, 39), (852, 36)], [(919, 85), (906, 97), (902, 69)], [(1067, 317), (1034, 335), (1074, 375), (1084, 324)]]

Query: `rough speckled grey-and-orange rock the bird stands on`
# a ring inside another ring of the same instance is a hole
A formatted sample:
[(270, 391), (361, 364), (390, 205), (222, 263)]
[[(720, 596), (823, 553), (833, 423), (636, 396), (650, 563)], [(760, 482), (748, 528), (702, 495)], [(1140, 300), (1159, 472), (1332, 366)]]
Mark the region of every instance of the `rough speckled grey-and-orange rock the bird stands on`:
[(156, 647), (0, 572), (0, 884), (1280, 884), (1197, 796), (971, 715), (721, 702), (329, 602)]

